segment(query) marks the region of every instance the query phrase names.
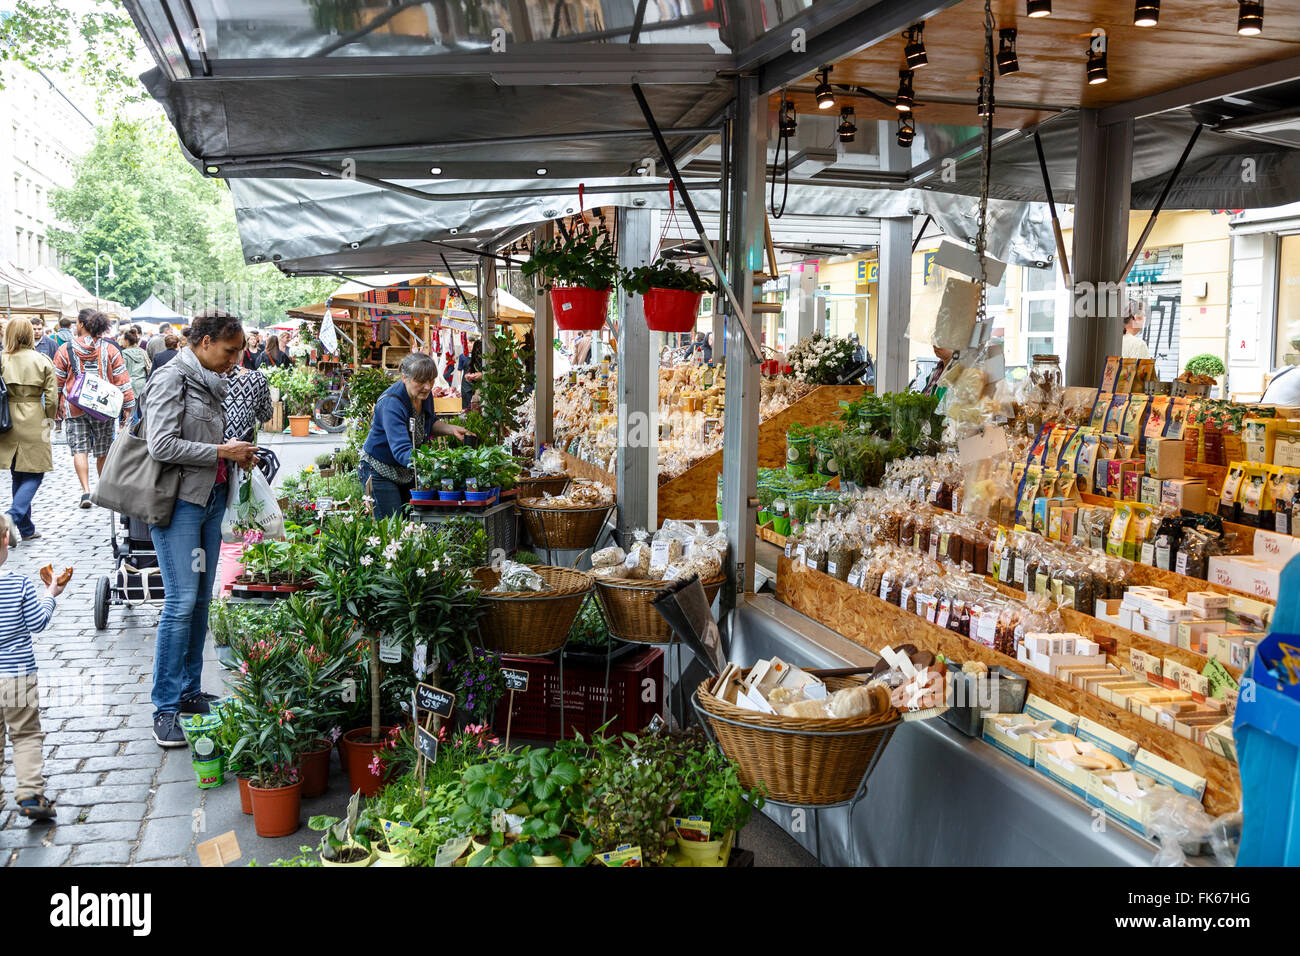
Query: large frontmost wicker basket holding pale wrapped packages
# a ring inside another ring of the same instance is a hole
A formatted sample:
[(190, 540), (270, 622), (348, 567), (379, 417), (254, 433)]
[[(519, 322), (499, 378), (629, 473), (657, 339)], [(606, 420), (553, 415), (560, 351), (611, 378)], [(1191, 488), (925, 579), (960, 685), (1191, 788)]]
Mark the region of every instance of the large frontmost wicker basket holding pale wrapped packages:
[[(892, 708), (824, 721), (759, 714), (714, 697), (710, 683), (696, 691), (696, 708), (736, 762), (741, 786), (763, 783), (777, 803), (826, 806), (852, 800), (902, 722)], [(855, 683), (862, 679), (826, 678), (831, 691)]]

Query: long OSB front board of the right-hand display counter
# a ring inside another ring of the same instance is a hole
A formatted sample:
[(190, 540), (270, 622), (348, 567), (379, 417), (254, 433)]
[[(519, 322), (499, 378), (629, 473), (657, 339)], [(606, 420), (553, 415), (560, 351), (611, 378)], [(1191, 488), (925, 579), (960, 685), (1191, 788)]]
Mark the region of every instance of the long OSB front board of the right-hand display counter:
[(875, 594), (781, 555), (776, 597), (789, 607), (876, 653), (885, 645), (911, 643), (920, 649), (942, 653), (956, 661), (982, 661), (989, 667), (1006, 667), (1026, 678), (1030, 693), (1080, 717), (1097, 721), (1136, 741), (1139, 747), (1204, 777), (1206, 780), (1204, 803), (1212, 814), (1230, 813), (1242, 804), (1236, 765), (1225, 757), (1008, 654), (931, 624), (915, 614), (881, 601)]

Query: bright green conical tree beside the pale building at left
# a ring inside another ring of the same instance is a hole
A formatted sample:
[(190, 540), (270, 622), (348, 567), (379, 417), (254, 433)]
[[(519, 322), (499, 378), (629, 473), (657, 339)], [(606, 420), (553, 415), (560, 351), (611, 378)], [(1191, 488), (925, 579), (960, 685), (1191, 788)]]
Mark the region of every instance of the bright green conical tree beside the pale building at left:
[(153, 230), (140, 209), (139, 196), (130, 186), (114, 185), (104, 193), (104, 203), (69, 250), (66, 269), (87, 289), (95, 287), (95, 256), (107, 252), (113, 260), (100, 265), (100, 295), (127, 306), (150, 297), (166, 272), (166, 259), (159, 250)]

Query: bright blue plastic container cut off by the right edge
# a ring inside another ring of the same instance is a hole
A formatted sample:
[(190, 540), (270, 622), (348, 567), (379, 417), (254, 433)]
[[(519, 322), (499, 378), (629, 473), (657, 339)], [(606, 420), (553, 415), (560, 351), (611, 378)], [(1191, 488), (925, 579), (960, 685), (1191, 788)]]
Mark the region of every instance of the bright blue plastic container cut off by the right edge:
[[(1300, 637), (1270, 633), (1254, 652), (1243, 682), (1232, 734), (1242, 770), (1242, 847), (1238, 866), (1300, 866), (1300, 684), (1286, 669), (1279, 644)], [(1252, 698), (1253, 695), (1253, 698)]]

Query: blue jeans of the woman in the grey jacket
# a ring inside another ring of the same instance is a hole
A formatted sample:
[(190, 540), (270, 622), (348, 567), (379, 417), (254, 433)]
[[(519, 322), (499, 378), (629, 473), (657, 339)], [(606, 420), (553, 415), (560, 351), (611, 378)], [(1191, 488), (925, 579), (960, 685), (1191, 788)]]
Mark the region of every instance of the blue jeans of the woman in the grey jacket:
[(177, 713), (181, 701), (203, 691), (203, 644), (225, 507), (226, 485), (220, 484), (205, 507), (177, 501), (168, 527), (150, 527), (165, 592), (153, 645), (153, 717)]

